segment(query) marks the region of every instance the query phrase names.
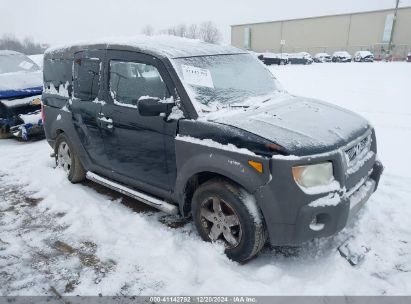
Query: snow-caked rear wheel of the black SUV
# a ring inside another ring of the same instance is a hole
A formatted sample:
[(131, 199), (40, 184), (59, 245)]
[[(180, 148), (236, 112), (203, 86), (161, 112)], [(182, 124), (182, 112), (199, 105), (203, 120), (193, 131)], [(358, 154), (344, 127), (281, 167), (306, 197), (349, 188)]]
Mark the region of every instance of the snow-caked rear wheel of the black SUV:
[(79, 183), (85, 180), (86, 170), (66, 134), (61, 133), (57, 137), (54, 152), (57, 167), (62, 168), (67, 173), (70, 182)]

